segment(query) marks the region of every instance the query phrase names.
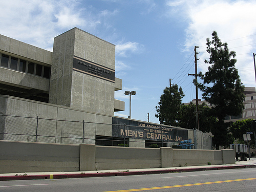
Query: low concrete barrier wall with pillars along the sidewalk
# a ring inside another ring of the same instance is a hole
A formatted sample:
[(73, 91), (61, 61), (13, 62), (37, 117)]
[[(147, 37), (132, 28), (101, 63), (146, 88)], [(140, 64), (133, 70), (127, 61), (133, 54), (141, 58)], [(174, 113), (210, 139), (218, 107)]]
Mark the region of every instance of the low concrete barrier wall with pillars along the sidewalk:
[(0, 140), (0, 173), (158, 168), (236, 163), (233, 150), (182, 150)]

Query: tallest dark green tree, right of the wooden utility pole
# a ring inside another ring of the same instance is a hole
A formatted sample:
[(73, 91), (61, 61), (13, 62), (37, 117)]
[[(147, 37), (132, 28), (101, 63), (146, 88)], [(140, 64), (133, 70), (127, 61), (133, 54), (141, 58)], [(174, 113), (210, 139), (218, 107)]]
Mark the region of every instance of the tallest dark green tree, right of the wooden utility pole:
[[(236, 52), (228, 50), (227, 43), (222, 43), (217, 32), (212, 32), (212, 40), (206, 39), (207, 49), (210, 54), (208, 71), (201, 76), (203, 83), (198, 87), (203, 92), (203, 98), (212, 104), (211, 113), (218, 118), (218, 123), (211, 130), (214, 135), (216, 148), (225, 146), (230, 138), (227, 130), (228, 124), (224, 123), (227, 115), (240, 115), (243, 110), (244, 86), (242, 86), (238, 70), (234, 67), (237, 60)], [(200, 73), (202, 75), (202, 73)]]

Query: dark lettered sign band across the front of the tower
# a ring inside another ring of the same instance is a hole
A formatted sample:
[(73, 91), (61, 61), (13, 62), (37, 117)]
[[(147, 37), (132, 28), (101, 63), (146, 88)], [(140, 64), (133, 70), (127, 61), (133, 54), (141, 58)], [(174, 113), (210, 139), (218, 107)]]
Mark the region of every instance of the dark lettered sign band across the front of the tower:
[(73, 70), (115, 82), (115, 70), (76, 56), (74, 56), (73, 60)]

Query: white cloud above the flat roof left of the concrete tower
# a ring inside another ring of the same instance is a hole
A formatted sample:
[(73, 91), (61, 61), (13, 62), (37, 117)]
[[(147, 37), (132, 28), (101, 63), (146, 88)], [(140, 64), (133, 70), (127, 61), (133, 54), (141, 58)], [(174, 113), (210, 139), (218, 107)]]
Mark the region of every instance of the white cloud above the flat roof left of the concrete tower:
[(3, 1), (0, 34), (52, 51), (55, 36), (74, 27), (93, 31), (108, 14), (84, 4), (79, 0)]

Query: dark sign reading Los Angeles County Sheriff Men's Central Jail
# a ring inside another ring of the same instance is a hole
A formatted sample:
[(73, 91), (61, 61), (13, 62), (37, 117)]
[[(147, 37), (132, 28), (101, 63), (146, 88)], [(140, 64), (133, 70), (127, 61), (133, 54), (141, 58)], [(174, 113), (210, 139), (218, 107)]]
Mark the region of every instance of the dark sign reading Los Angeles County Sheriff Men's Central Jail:
[(112, 118), (112, 137), (181, 142), (188, 139), (188, 130), (151, 123)]

